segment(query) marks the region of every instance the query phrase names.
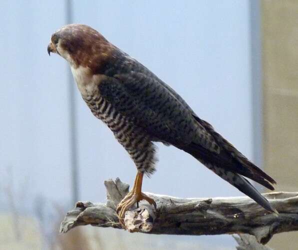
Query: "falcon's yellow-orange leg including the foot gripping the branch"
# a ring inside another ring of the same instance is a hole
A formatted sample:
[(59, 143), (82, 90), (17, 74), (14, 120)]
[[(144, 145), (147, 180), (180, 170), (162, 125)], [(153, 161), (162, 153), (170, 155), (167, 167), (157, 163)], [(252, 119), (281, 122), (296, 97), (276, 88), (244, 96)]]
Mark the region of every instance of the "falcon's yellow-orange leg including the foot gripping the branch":
[(138, 202), (142, 199), (147, 200), (150, 204), (154, 205), (156, 208), (156, 203), (153, 199), (148, 197), (146, 194), (141, 192), (142, 188), (142, 180), (143, 180), (143, 173), (137, 172), (134, 184), (132, 189), (127, 193), (127, 195), (120, 201), (117, 205), (116, 212), (118, 214), (120, 224), (125, 227), (123, 218), (125, 216), (125, 212), (133, 206), (135, 202)]

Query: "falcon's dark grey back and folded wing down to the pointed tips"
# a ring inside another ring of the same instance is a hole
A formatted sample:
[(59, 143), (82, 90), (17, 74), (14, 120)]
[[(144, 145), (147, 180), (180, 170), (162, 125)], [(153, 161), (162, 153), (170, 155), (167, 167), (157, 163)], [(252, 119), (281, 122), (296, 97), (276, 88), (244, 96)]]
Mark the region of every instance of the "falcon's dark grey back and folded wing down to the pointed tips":
[(100, 82), (99, 91), (128, 120), (144, 128), (154, 140), (273, 189), (274, 179), (200, 119), (170, 86), (139, 62), (124, 57), (116, 64), (118, 69), (113, 68), (114, 73)]

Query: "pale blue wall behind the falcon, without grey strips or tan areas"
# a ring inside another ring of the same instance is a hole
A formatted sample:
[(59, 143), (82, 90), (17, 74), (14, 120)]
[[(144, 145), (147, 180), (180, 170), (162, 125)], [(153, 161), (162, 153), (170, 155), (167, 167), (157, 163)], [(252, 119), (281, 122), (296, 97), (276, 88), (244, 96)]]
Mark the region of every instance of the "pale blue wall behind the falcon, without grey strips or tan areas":
[[(14, 188), (27, 197), (19, 202), (25, 202), (28, 211), (36, 195), (68, 208), (72, 205), (68, 65), (46, 52), (50, 35), (65, 24), (65, 13), (60, 0), (0, 1), (0, 183), (7, 181), (7, 167), (12, 167)], [(73, 4), (75, 23), (92, 26), (142, 62), (252, 158), (249, 18), (248, 0), (76, 0)], [(132, 183), (136, 170), (78, 91), (76, 107), (79, 198), (104, 201), (105, 179), (118, 176)], [(157, 172), (144, 179), (143, 190), (184, 197), (242, 195), (188, 154), (158, 147)], [(7, 208), (4, 193), (0, 207)], [(234, 245), (227, 235), (184, 238)]]

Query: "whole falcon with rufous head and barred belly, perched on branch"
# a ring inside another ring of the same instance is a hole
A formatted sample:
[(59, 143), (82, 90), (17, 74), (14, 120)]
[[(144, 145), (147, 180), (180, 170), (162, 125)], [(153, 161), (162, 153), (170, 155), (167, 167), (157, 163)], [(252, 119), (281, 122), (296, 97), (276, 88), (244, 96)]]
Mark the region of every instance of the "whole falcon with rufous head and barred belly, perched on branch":
[(156, 207), (141, 192), (143, 175), (155, 170), (154, 141), (191, 154), (263, 208), (277, 213), (243, 176), (271, 190), (274, 179), (199, 118), (169, 85), (98, 31), (83, 24), (65, 25), (52, 34), (47, 52), (66, 59), (91, 112), (110, 128), (135, 163), (134, 185), (116, 209), (120, 223), (125, 211), (142, 199)]

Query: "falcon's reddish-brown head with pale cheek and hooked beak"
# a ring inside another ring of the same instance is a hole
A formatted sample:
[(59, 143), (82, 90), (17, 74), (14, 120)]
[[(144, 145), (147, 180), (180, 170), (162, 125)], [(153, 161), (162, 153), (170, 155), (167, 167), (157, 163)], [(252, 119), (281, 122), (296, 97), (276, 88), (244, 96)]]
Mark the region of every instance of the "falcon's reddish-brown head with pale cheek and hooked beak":
[(47, 52), (59, 54), (71, 67), (84, 66), (96, 71), (114, 48), (95, 29), (83, 24), (68, 24), (52, 34)]

